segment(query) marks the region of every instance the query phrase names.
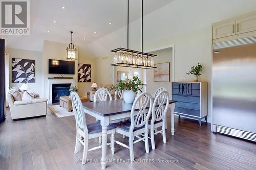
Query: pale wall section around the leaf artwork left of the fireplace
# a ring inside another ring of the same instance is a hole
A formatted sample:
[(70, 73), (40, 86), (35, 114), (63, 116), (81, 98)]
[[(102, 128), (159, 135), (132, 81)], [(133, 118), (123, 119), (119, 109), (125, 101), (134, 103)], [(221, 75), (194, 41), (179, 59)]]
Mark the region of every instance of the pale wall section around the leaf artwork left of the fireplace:
[(29, 51), (29, 50), (18, 50), (14, 48), (6, 48), (6, 53), (9, 54), (9, 73), (10, 73), (10, 88), (22, 86), (23, 83), (12, 83), (12, 58), (29, 59), (35, 60), (35, 83), (29, 83), (29, 87), (40, 96), (43, 95), (42, 83), (42, 53)]

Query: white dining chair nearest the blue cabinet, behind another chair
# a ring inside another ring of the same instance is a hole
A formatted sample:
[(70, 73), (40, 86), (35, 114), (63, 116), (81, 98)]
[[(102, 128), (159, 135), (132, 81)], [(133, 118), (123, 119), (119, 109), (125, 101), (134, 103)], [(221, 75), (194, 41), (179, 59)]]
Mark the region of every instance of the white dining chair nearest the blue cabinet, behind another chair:
[[(169, 93), (168, 91), (161, 91), (157, 94), (153, 107), (152, 107), (152, 119), (148, 123), (148, 128), (151, 132), (151, 144), (152, 149), (155, 150), (155, 138), (154, 136), (158, 133), (163, 135), (163, 143), (166, 143), (166, 113), (169, 105)], [(161, 130), (157, 128), (162, 127)]]

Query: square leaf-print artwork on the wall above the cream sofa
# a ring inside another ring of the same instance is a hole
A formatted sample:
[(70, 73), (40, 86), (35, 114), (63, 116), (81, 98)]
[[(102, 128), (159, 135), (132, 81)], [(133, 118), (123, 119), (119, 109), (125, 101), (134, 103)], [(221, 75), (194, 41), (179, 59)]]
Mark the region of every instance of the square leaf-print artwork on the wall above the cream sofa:
[(12, 59), (12, 83), (34, 83), (35, 60)]

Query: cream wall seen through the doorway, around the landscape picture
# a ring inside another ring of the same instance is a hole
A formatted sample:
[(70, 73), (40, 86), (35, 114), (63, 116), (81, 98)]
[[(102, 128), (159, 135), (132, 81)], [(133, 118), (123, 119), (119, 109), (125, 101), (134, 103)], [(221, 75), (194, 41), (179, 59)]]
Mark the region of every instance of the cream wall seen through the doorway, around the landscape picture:
[(154, 69), (147, 69), (146, 70), (146, 91), (151, 93), (152, 95), (155, 94), (155, 91), (159, 87), (164, 87), (169, 91), (169, 95), (172, 94), (172, 59), (173, 59), (173, 50), (172, 48), (168, 48), (165, 50), (160, 50), (157, 52), (152, 52), (152, 54), (157, 55), (154, 58), (154, 63), (170, 63), (170, 82), (154, 82)]

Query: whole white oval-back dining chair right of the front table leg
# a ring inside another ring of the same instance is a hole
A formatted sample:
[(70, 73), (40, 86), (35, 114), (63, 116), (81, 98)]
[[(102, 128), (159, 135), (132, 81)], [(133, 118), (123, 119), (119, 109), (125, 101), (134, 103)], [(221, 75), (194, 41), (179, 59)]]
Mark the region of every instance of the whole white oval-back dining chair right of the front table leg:
[[(148, 118), (152, 112), (153, 99), (150, 93), (143, 92), (137, 96), (135, 99), (132, 110), (131, 110), (131, 120), (126, 122), (120, 122), (112, 124), (116, 127), (116, 132), (129, 137), (129, 147), (119, 141), (122, 147), (130, 149), (131, 161), (134, 161), (134, 151), (133, 144), (139, 141), (145, 142), (146, 153), (150, 152), (148, 148)], [(144, 133), (144, 134), (143, 134)], [(134, 137), (138, 140), (134, 141)]]

